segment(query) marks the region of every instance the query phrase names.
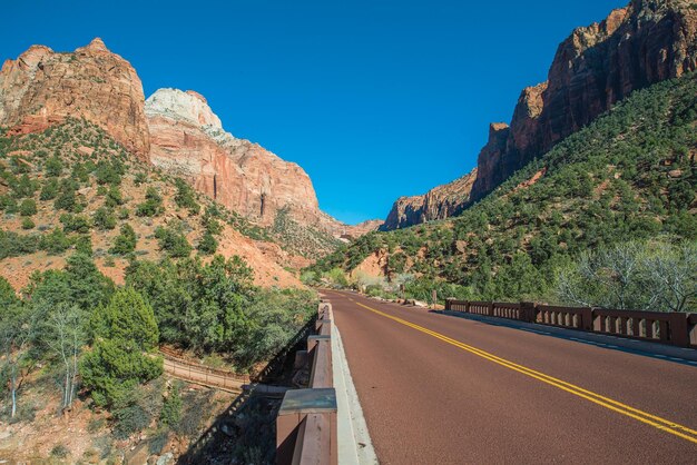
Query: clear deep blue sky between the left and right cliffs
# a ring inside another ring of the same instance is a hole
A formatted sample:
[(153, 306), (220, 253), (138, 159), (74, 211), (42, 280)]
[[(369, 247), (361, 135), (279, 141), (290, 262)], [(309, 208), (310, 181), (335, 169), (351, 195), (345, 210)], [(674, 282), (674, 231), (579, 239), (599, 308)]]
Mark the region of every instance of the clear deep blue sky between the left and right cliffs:
[(627, 2), (13, 1), (0, 59), (101, 37), (146, 97), (203, 93), (228, 131), (300, 164), (320, 206), (356, 222), (474, 167), (489, 122), (510, 120), (558, 43)]

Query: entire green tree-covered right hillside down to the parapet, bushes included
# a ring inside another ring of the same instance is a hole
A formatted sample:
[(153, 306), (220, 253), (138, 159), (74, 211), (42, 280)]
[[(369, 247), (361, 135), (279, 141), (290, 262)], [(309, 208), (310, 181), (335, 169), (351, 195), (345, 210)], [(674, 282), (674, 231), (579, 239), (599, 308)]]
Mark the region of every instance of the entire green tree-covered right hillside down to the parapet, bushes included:
[[(353, 281), (382, 296), (404, 285), (406, 297), (424, 300), (436, 289), (441, 298), (697, 310), (696, 123), (695, 75), (636, 91), (458, 218), (366, 235), (303, 278)], [(386, 255), (382, 277), (356, 270), (373, 254)], [(608, 265), (618, 255), (636, 265), (631, 283)], [(676, 297), (683, 304), (656, 296), (669, 294), (669, 284), (656, 283), (660, 277), (651, 273), (657, 264), (687, 270), (674, 277), (685, 288)], [(565, 291), (573, 279), (587, 299)], [(602, 300), (607, 293), (597, 287), (603, 280), (606, 291), (627, 294), (634, 286), (644, 294)], [(662, 290), (652, 293), (650, 283)]]

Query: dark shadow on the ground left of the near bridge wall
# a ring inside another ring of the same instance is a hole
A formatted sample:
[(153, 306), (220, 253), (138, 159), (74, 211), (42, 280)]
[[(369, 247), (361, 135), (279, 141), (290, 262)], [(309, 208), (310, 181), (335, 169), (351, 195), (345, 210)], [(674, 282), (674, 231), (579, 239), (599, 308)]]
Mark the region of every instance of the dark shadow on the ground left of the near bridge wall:
[(276, 455), (276, 414), (282, 395), (255, 393), (255, 384), (291, 386), (295, 352), (305, 348), (314, 328), (311, 319), (255, 376), (213, 425), (179, 457), (178, 464), (273, 464)]

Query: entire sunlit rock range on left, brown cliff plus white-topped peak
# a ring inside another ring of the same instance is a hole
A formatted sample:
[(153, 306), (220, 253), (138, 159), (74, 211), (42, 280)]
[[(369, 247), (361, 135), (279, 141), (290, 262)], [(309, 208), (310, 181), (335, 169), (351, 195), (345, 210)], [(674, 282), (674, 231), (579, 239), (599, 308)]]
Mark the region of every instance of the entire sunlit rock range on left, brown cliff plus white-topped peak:
[[(226, 132), (199, 93), (160, 89), (146, 102), (136, 70), (100, 39), (73, 52), (33, 46), (4, 62), (0, 128), (6, 136), (38, 135), (70, 119), (96, 125), (141, 162), (184, 178), (237, 214), (238, 227), (291, 254), (324, 254), (342, 236), (371, 229), (324, 214), (298, 165)], [(100, 155), (85, 150), (84, 156)]]

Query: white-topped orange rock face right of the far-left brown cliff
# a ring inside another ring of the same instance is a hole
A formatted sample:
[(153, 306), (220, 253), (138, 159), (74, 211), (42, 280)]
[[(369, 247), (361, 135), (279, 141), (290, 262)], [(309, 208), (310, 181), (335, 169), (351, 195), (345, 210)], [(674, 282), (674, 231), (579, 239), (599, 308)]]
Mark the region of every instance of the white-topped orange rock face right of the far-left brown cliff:
[(197, 190), (263, 225), (271, 225), (283, 208), (303, 224), (321, 220), (307, 174), (226, 132), (200, 95), (160, 89), (147, 99), (146, 113), (155, 166), (181, 176)]

